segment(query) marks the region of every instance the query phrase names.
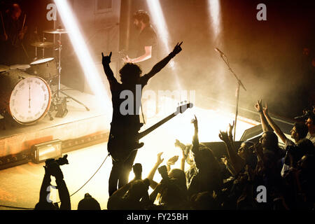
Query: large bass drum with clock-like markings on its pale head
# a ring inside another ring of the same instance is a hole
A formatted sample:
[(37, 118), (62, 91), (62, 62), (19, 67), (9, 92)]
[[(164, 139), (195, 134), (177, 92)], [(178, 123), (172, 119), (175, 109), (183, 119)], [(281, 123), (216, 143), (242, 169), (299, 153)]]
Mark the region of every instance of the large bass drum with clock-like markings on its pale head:
[(21, 125), (41, 120), (51, 104), (51, 90), (43, 78), (19, 69), (0, 73), (0, 113)]

